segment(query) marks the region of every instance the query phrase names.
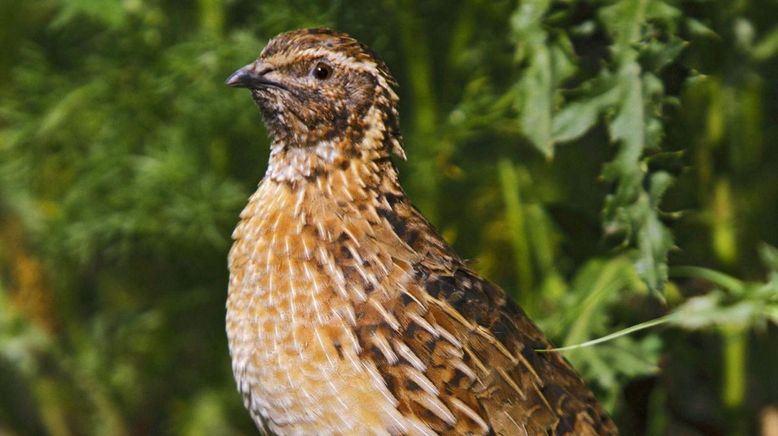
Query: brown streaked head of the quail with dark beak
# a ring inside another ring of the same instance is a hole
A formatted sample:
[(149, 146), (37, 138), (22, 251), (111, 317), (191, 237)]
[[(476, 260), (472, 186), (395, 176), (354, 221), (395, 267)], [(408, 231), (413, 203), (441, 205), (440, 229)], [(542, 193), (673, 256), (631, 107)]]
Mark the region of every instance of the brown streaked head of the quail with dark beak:
[(227, 85), (248, 88), (281, 147), (359, 153), (383, 148), (404, 157), (396, 82), (384, 62), (354, 38), (303, 29), (271, 39)]

